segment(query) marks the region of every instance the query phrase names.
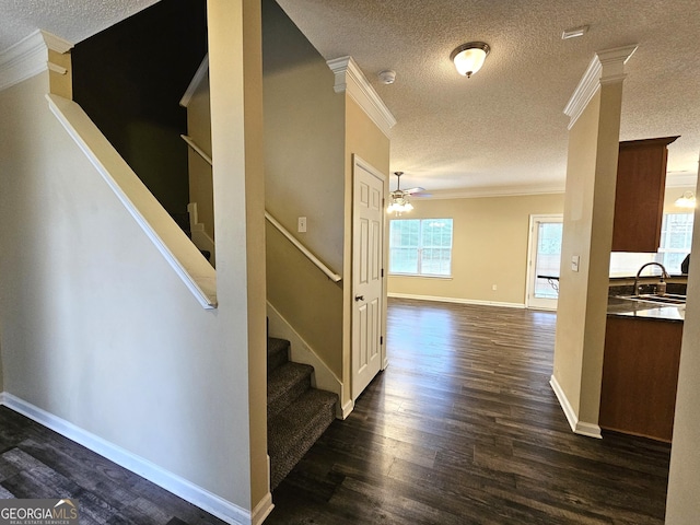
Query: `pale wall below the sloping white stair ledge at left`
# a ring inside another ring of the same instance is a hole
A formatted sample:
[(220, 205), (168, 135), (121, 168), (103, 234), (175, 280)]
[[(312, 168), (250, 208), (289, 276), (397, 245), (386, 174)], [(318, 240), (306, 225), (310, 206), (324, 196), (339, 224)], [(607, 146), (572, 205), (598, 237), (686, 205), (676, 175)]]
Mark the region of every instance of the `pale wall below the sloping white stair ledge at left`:
[[(0, 93), (4, 390), (250, 510), (245, 247), (220, 232), (243, 254), (224, 257), (224, 275), (244, 282), (219, 280), (219, 310), (203, 310), (50, 114), (47, 91), (40, 73)], [(244, 208), (229, 215), (245, 223)], [(264, 310), (257, 320), (264, 334)]]

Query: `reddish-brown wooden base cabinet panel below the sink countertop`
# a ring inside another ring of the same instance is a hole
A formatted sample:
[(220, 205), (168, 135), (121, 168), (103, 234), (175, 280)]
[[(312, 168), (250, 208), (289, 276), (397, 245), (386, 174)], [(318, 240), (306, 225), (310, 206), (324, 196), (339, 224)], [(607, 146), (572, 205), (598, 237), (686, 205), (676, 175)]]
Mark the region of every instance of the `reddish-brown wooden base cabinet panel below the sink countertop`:
[(603, 358), (603, 429), (670, 442), (682, 323), (608, 316)]

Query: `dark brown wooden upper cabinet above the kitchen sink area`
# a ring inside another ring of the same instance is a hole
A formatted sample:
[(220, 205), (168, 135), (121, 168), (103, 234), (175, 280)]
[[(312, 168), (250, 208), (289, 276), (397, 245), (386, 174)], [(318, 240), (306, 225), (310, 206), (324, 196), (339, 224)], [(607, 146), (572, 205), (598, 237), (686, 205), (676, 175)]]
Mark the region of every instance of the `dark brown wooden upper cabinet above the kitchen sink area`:
[(612, 252), (653, 252), (661, 244), (668, 144), (678, 137), (620, 142)]

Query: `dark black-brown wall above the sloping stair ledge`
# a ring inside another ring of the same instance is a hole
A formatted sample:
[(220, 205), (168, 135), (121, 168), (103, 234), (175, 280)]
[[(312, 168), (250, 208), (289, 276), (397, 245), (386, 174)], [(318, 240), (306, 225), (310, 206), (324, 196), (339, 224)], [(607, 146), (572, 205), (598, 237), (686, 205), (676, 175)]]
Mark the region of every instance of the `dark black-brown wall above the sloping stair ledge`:
[(74, 101), (170, 213), (189, 200), (179, 100), (206, 52), (202, 0), (163, 0), (72, 50)]

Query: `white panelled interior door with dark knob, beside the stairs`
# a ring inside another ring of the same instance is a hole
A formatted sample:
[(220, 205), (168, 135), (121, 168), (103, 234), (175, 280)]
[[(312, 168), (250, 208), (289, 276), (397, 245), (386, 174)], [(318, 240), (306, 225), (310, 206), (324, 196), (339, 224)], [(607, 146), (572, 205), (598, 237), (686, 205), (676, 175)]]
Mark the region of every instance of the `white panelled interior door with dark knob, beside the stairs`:
[(352, 205), (352, 399), (382, 366), (384, 178), (355, 159)]

